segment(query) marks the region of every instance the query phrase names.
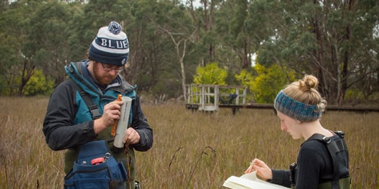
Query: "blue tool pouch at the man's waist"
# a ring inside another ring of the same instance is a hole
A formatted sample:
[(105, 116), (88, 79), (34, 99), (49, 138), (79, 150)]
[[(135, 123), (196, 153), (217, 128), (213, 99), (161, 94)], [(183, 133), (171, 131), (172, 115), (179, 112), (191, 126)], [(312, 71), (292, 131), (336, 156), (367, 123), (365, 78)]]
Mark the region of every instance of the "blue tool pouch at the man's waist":
[(105, 140), (96, 140), (79, 147), (74, 166), (65, 176), (64, 188), (115, 188), (125, 181), (123, 162), (116, 162)]

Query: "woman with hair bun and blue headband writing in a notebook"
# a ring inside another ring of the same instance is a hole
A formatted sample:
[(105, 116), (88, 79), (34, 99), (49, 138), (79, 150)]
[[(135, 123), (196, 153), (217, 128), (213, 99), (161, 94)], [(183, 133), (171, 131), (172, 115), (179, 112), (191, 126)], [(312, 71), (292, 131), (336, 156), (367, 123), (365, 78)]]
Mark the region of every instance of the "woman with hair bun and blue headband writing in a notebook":
[[(325, 129), (320, 124), (326, 101), (317, 91), (318, 80), (305, 76), (281, 90), (275, 98), (274, 108), (280, 119), (280, 129), (294, 140), (304, 138), (297, 164), (290, 170), (269, 168), (260, 159), (254, 159), (245, 173), (256, 173), (273, 184), (292, 188), (349, 188), (349, 154), (342, 132)], [(318, 139), (325, 136), (330, 146)], [(329, 153), (328, 148), (336, 152)], [(293, 178), (293, 179), (292, 179)]]

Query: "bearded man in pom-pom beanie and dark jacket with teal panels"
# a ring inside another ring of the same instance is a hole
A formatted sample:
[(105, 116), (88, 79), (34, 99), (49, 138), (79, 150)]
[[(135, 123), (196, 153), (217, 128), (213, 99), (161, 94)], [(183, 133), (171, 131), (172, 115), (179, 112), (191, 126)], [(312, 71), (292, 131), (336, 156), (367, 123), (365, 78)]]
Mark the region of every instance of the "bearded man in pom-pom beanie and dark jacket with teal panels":
[[(126, 188), (134, 188), (134, 149), (149, 150), (153, 131), (141, 110), (135, 87), (119, 74), (128, 55), (127, 36), (121, 31), (121, 25), (112, 21), (99, 29), (88, 50), (87, 60), (65, 66), (70, 79), (52, 93), (43, 121), (43, 133), (52, 150), (68, 149), (65, 153), (66, 174), (72, 170), (81, 145), (94, 140), (112, 140), (112, 126), (121, 117), (123, 101), (116, 101), (121, 94), (133, 99), (131, 122), (123, 137), (126, 152), (116, 152), (112, 142), (107, 147), (127, 170)], [(90, 100), (86, 100), (88, 97)]]

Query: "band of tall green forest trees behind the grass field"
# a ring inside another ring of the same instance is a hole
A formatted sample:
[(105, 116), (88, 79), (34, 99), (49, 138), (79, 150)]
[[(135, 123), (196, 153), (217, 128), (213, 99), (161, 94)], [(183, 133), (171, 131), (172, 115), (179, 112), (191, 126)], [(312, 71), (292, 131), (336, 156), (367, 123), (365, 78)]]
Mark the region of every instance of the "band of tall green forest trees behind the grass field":
[[(192, 81), (198, 65), (209, 62), (226, 69), (225, 83), (235, 85), (234, 74), (250, 67), (250, 55), (258, 52), (256, 61), (265, 67), (276, 63), (320, 78), (328, 102), (345, 88), (365, 95), (378, 92), (378, 77), (366, 76), (378, 67), (376, 1), (217, 0), (206, 1), (206, 8), (186, 2), (1, 1), (1, 94), (19, 92), (22, 86), (14, 79), (22, 68), (28, 73), (41, 69), (45, 77), (61, 82), (63, 65), (82, 60), (99, 27), (112, 20), (123, 25), (130, 41), (125, 79), (142, 80), (137, 84), (143, 91), (167, 91), (167, 81), (161, 80), (170, 74), (173, 86), (168, 88), (180, 89)], [(360, 85), (361, 78), (369, 86)]]

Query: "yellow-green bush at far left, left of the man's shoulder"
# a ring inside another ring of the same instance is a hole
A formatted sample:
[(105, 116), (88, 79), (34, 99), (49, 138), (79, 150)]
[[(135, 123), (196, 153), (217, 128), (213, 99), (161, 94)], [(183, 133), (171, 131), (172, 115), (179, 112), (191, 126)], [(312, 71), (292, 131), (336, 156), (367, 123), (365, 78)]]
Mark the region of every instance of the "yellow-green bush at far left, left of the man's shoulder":
[[(20, 80), (18, 78), (17, 82), (20, 82)], [(24, 96), (45, 95), (51, 93), (53, 87), (54, 81), (45, 78), (42, 71), (37, 69), (26, 83), (22, 93)]]

